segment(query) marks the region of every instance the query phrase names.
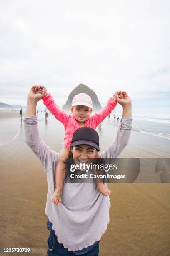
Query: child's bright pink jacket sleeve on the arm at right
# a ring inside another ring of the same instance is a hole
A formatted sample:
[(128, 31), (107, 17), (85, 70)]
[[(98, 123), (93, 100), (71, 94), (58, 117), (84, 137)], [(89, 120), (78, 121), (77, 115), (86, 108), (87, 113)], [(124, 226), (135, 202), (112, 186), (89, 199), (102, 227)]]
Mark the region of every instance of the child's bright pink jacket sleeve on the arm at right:
[(117, 105), (117, 102), (113, 101), (112, 98), (110, 98), (107, 101), (107, 105), (105, 105), (105, 107), (102, 108), (100, 112), (92, 115), (90, 117), (90, 120), (93, 123), (95, 123), (95, 126), (97, 127), (97, 125), (99, 125), (107, 117), (107, 115), (110, 115), (110, 113), (112, 112), (112, 110), (115, 108), (116, 105)]

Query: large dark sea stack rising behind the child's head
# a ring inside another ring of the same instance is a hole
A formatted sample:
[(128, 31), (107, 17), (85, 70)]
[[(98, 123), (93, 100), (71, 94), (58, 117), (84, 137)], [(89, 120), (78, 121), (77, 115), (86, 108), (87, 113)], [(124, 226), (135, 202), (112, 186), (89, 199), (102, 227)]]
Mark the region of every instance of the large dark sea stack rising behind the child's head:
[(68, 99), (67, 99), (65, 105), (63, 105), (62, 109), (65, 111), (69, 111), (71, 108), (71, 102), (72, 102), (73, 97), (76, 94), (79, 94), (82, 92), (85, 92), (87, 95), (89, 95), (92, 98), (92, 105), (93, 105), (92, 108), (94, 111), (101, 110), (102, 107), (97, 98), (97, 95), (95, 94), (95, 92), (93, 92), (92, 89), (90, 89), (87, 85), (84, 85), (84, 84), (79, 84), (77, 87), (74, 88), (74, 90), (72, 90), (72, 92), (68, 96)]

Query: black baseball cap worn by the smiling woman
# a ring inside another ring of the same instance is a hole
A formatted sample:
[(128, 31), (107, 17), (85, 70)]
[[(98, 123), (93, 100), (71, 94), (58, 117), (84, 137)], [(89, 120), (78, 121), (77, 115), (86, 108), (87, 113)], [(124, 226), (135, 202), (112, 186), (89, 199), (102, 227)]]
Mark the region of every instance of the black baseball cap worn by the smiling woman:
[(89, 145), (93, 148), (99, 149), (99, 136), (97, 131), (90, 127), (78, 128), (72, 136), (70, 147), (79, 145)]

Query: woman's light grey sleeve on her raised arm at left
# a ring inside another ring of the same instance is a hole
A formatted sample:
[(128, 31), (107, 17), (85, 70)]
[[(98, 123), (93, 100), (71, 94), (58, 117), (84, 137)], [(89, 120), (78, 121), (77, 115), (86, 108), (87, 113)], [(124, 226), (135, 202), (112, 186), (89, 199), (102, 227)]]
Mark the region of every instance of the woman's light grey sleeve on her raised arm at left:
[(34, 152), (34, 154), (41, 161), (45, 171), (52, 167), (56, 161), (57, 154), (55, 151), (50, 150), (50, 147), (40, 138), (37, 117), (30, 116), (23, 118), (25, 129), (25, 141)]

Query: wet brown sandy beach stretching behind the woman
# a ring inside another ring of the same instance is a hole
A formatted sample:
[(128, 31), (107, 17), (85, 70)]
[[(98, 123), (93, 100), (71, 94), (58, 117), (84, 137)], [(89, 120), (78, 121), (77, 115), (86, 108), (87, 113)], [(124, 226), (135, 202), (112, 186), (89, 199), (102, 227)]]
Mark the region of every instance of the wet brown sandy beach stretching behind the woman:
[[(0, 247), (31, 248), (31, 255), (46, 255), (44, 169), (25, 143), (20, 114), (0, 112), (0, 125)], [(42, 113), (39, 131), (51, 149), (60, 151), (64, 130), (59, 122), (49, 116), (45, 123)], [(102, 151), (114, 141), (117, 127), (105, 120), (97, 132)], [(132, 131), (121, 157), (168, 158), (169, 148), (168, 140)], [(109, 188), (110, 223), (100, 240), (100, 256), (170, 255), (170, 184), (109, 184)]]

